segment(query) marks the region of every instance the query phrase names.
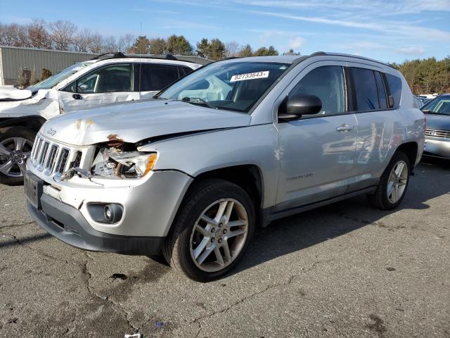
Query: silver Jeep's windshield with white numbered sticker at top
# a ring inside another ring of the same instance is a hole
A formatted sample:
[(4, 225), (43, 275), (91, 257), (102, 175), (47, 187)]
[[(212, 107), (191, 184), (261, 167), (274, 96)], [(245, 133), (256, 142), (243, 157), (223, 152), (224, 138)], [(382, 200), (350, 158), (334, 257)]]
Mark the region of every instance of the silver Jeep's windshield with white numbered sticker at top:
[(248, 113), (289, 63), (212, 63), (172, 84), (160, 99)]

